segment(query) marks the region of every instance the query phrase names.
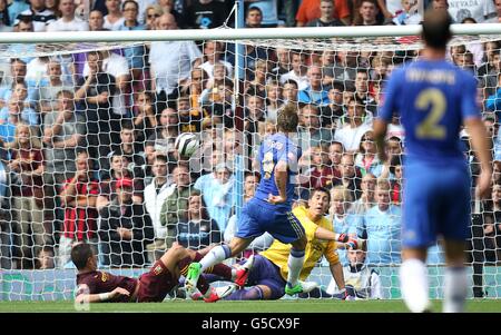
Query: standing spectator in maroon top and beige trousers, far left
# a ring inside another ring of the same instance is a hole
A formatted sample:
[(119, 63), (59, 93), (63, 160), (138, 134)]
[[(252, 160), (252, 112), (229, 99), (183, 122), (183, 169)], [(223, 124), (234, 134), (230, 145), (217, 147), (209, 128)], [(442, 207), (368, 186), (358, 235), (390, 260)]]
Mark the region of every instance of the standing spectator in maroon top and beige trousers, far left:
[(50, 240), (43, 227), (43, 154), (37, 129), (27, 124), (16, 126), (16, 139), (10, 146), (12, 228), (19, 247), (18, 267), (32, 260)]

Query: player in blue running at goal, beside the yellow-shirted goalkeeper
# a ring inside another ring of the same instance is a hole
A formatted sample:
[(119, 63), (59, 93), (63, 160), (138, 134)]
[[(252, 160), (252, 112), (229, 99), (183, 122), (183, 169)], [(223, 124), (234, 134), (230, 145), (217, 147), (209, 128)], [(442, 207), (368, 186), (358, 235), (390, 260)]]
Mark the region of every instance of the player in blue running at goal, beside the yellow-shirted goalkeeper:
[[(185, 280), (188, 294), (195, 289), (202, 272), (238, 255), (265, 231), (284, 244), (292, 244), (285, 293), (294, 295), (310, 289), (310, 283), (298, 279), (307, 240), (303, 226), (291, 211), (301, 148), (289, 139), (289, 135), (296, 134), (297, 124), (294, 105), (287, 105), (278, 112), (278, 132), (266, 138), (261, 145), (258, 159), (262, 179), (255, 196), (242, 210), (238, 230), (228, 245), (214, 247), (199, 263), (189, 266)], [(245, 285), (249, 266), (252, 265), (244, 265), (244, 272), (239, 272), (235, 280), (237, 285)]]

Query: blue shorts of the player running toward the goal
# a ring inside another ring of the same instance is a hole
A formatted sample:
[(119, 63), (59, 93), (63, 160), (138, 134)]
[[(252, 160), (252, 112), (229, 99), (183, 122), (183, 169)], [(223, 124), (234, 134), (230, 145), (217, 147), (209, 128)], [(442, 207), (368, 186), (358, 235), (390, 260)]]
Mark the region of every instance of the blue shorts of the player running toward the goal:
[(266, 231), (284, 244), (291, 244), (305, 235), (299, 220), (287, 207), (252, 198), (242, 209), (235, 236), (253, 238)]

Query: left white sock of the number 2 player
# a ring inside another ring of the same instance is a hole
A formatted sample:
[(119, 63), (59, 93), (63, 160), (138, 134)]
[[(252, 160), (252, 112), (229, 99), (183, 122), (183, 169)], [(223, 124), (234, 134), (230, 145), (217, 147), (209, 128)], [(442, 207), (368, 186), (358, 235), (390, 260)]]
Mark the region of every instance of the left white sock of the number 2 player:
[(429, 305), (429, 283), (426, 265), (415, 258), (402, 263), (400, 287), (407, 308), (413, 313), (424, 312)]

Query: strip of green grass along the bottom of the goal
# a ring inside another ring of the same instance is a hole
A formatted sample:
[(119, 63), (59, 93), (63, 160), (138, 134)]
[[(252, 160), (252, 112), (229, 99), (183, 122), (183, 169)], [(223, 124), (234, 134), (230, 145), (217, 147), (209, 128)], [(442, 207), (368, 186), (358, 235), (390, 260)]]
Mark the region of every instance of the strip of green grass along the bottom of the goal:
[[(440, 312), (441, 302), (433, 302), (433, 312)], [(0, 302), (0, 313), (70, 313), (72, 302)], [(132, 313), (353, 313), (407, 312), (402, 300), (276, 300), (276, 302), (204, 302), (168, 300), (159, 304), (92, 304), (90, 312)], [(501, 312), (501, 299), (469, 300), (466, 312)]]

